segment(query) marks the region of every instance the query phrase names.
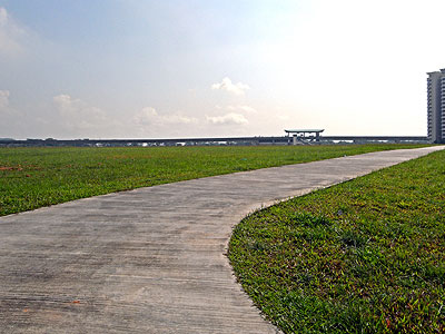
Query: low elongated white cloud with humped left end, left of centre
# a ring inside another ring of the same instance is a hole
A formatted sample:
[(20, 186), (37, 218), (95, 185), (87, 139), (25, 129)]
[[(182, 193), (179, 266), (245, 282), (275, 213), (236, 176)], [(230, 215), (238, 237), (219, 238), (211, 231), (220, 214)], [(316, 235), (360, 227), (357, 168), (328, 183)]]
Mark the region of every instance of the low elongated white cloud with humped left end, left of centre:
[(137, 112), (134, 118), (134, 124), (138, 126), (168, 126), (168, 125), (190, 125), (197, 124), (198, 119), (187, 117), (180, 114), (159, 115), (152, 107), (146, 107)]

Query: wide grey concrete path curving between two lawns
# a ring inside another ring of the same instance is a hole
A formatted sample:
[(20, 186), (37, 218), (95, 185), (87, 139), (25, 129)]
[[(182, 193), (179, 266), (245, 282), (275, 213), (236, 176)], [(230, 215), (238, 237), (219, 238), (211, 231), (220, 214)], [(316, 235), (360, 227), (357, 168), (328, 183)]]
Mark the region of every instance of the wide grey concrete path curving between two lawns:
[(80, 199), (0, 218), (1, 333), (277, 333), (224, 253), (254, 208), (443, 147)]

